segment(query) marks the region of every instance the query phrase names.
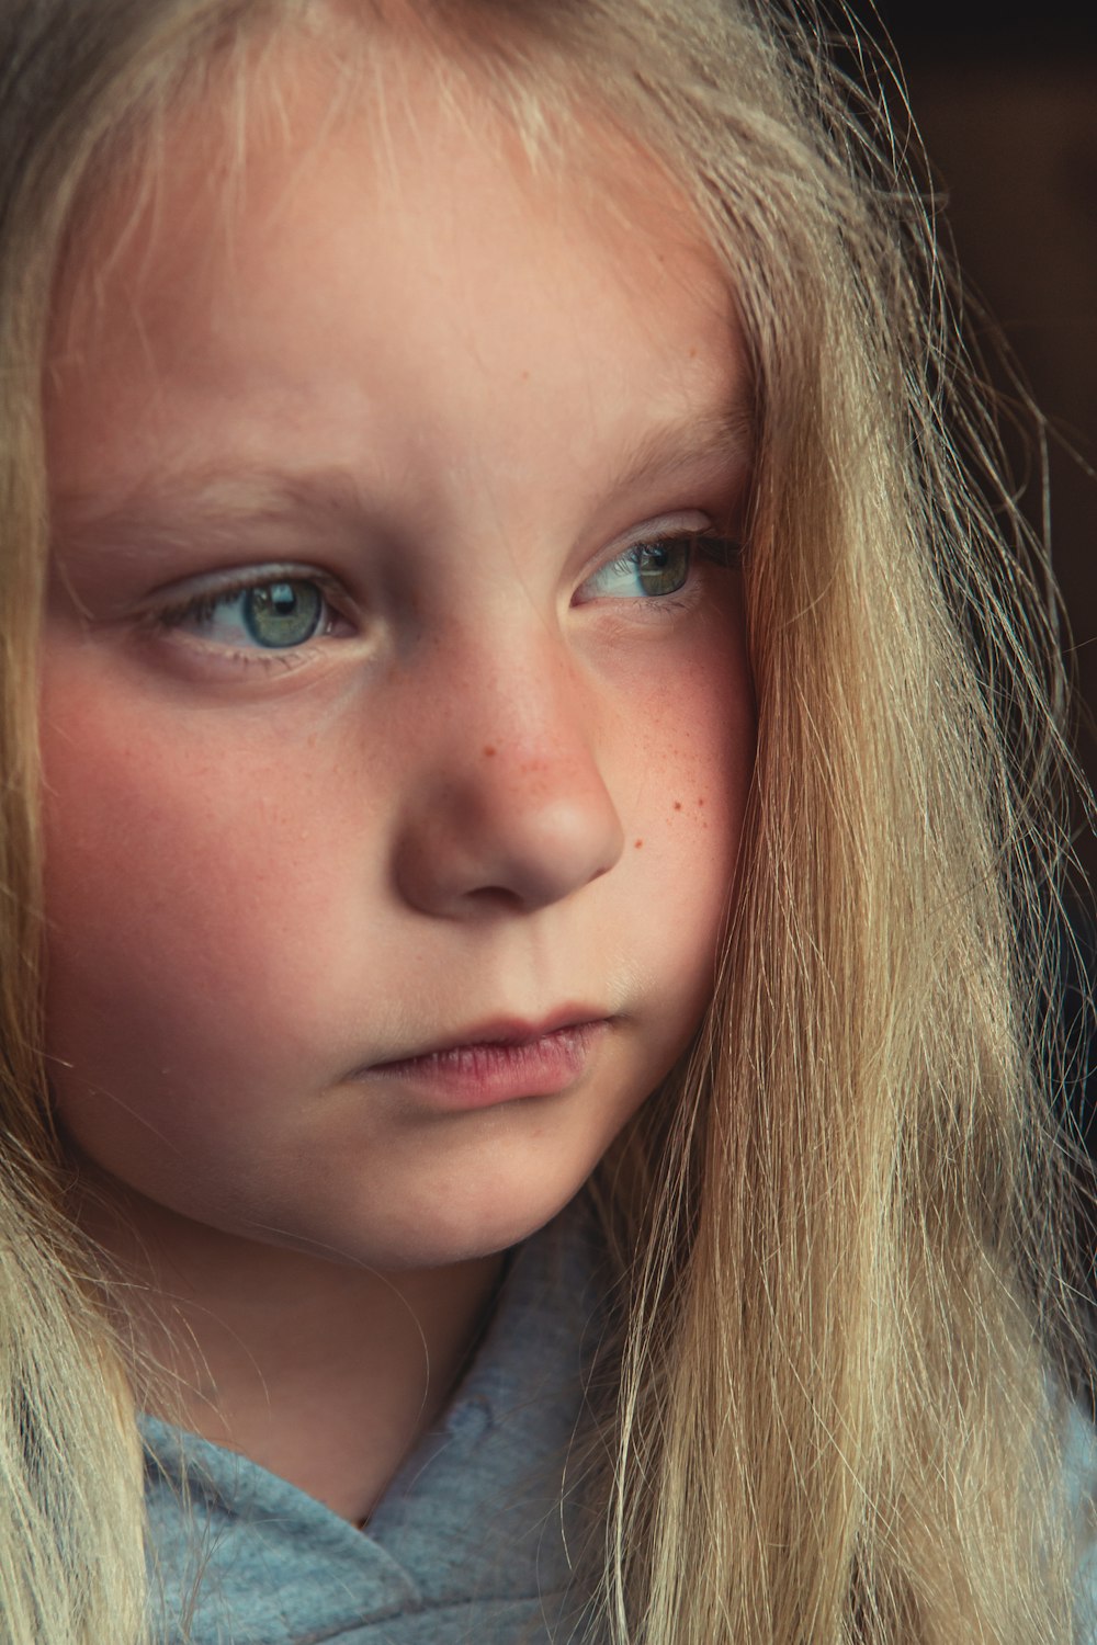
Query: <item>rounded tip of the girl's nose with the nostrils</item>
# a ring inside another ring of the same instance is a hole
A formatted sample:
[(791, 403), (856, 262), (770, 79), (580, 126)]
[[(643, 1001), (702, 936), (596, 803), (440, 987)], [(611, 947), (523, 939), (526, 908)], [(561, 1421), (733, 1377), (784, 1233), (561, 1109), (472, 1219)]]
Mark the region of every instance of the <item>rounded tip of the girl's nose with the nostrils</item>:
[(424, 913), (544, 908), (607, 873), (625, 844), (589, 750), (539, 757), (480, 750), (475, 767), (424, 795), (403, 829), (396, 878)]

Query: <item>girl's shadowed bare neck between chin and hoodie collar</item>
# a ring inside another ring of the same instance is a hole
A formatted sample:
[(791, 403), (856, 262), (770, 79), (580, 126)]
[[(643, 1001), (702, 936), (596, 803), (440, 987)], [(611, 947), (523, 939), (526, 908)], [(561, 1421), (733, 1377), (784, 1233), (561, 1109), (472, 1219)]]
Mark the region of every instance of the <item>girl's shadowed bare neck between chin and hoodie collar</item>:
[(81, 1196), (120, 1263), (138, 1402), (363, 1525), (444, 1408), (503, 1255), (380, 1273), (141, 1201)]

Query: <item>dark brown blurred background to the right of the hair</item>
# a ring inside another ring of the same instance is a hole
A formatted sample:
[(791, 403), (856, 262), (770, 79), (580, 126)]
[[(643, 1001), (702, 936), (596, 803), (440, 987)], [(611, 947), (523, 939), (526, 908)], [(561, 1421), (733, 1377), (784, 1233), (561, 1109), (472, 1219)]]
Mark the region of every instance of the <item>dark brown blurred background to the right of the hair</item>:
[[(893, 41), (965, 288), (1000, 324), (1051, 421), (1051, 548), (1077, 670), (1074, 747), (1097, 788), (1097, 0), (850, 8)], [(1023, 449), (1007, 446), (1023, 479)], [(1039, 526), (1038, 475), (1023, 505)], [(1097, 982), (1097, 837), (1081, 816), (1074, 826), (1084, 880), (1072, 924)], [(1077, 1015), (1071, 964), (1064, 999), (1079, 1054), (1071, 1102), (1097, 1161), (1097, 1025)]]

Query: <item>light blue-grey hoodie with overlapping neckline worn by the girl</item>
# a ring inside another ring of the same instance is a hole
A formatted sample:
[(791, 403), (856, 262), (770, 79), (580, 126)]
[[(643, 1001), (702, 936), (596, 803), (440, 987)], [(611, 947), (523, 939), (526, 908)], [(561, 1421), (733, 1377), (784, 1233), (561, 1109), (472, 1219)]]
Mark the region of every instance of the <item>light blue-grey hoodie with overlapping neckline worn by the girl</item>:
[[(158, 1645), (589, 1645), (569, 1594), (581, 1522), (566, 1459), (600, 1329), (597, 1267), (581, 1196), (515, 1252), (454, 1400), (365, 1531), (248, 1457), (141, 1416)], [(1069, 1510), (1089, 1550), (1079, 1645), (1097, 1645), (1095, 1489), (1097, 1431), (1072, 1406)]]

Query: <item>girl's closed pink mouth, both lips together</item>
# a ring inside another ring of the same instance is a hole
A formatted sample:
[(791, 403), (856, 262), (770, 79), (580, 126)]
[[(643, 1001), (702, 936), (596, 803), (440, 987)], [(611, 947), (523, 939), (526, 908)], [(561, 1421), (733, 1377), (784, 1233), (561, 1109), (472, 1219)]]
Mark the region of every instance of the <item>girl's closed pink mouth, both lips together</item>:
[(442, 1109), (492, 1107), (567, 1091), (587, 1071), (610, 1018), (569, 1007), (544, 1022), (497, 1018), (411, 1054), (360, 1069), (357, 1079), (395, 1079)]

